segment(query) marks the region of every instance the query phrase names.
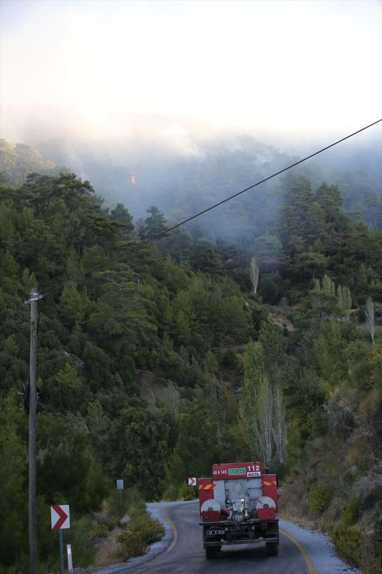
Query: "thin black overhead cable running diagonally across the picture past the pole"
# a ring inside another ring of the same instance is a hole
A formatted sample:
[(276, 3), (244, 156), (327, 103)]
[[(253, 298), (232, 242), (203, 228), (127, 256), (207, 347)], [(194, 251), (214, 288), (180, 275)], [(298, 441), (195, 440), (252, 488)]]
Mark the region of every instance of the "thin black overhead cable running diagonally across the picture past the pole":
[[(310, 158), (314, 157), (314, 156), (318, 156), (318, 154), (325, 152), (325, 150), (333, 148), (333, 146), (341, 144), (341, 142), (345, 141), (345, 139), (349, 139), (352, 138), (353, 135), (357, 135), (359, 133), (361, 133), (361, 131), (367, 130), (369, 127), (375, 126), (377, 123), (382, 122), (382, 119), (377, 120), (376, 122), (373, 123), (369, 123), (368, 126), (365, 126), (363, 128), (361, 128), (360, 130), (354, 131), (352, 134), (346, 135), (346, 137), (338, 139), (336, 142), (334, 142), (334, 144), (330, 144), (328, 146), (326, 146), (325, 148), (322, 148), (320, 150), (318, 150), (318, 152), (314, 152), (312, 154), (310, 154), (310, 156), (306, 156), (304, 157), (302, 160), (296, 161), (294, 164), (289, 165), (288, 167), (279, 170), (276, 173), (273, 173), (271, 176), (269, 177), (265, 177), (265, 179), (258, 181), (257, 183), (250, 185), (250, 187), (247, 187), (245, 189), (242, 189), (242, 191), (239, 191), (238, 193), (234, 193), (234, 195), (231, 195), (230, 197), (227, 197), (226, 199), (223, 199), (222, 201), (219, 201), (219, 203), (215, 203), (215, 205), (211, 205), (211, 207), (207, 207), (206, 210), (200, 211), (198, 214), (196, 215), (192, 215), (190, 218), (185, 219), (184, 221), (177, 223), (176, 225), (169, 227), (168, 229), (162, 231), (161, 233), (154, 235), (153, 237), (149, 238), (149, 239), (145, 239), (145, 241), (142, 241), (141, 243), (138, 243), (138, 245), (135, 245), (133, 247), (131, 247), (131, 249), (127, 249), (126, 251), (123, 251), (122, 253), (120, 253), (119, 255), (115, 255), (115, 257), (112, 257), (111, 259), (108, 259), (107, 261), (104, 261), (103, 263), (100, 263), (99, 265), (96, 265), (95, 267), (92, 267), (91, 269), (88, 269), (88, 271), (85, 271), (84, 273), (81, 273), (80, 275), (77, 275), (76, 277), (73, 277), (72, 279), (69, 279), (68, 281), (65, 281), (65, 283), (63, 283), (62, 285), (58, 285), (57, 287), (55, 287), (54, 289), (51, 289), (50, 291), (44, 293), (43, 295), (40, 295), (39, 298), (43, 298), (46, 297), (47, 295), (49, 295), (50, 293), (54, 293), (54, 291), (57, 291), (58, 289), (62, 289), (63, 287), (65, 287), (65, 285), (68, 285), (69, 283), (72, 283), (73, 281), (76, 281), (77, 279), (80, 279), (81, 277), (84, 277), (85, 275), (87, 275), (88, 273), (91, 273), (92, 271), (95, 271), (96, 269), (100, 269), (100, 267), (103, 267), (104, 265), (107, 265), (108, 263), (111, 263), (112, 261), (115, 261), (115, 259), (118, 259), (119, 257), (122, 257), (123, 255), (127, 255), (127, 254), (131, 254), (133, 253), (133, 251), (135, 251), (136, 249), (138, 249), (139, 247), (145, 245), (146, 243), (149, 243), (151, 241), (153, 241), (154, 239), (158, 239), (159, 237), (162, 237), (163, 235), (166, 235), (166, 233), (173, 231), (174, 229), (176, 229), (177, 227), (180, 227), (182, 225), (184, 225), (185, 223), (188, 223), (190, 221), (192, 221), (192, 219), (196, 219), (198, 218), (200, 215), (206, 214), (208, 211), (214, 210), (215, 207), (219, 207), (219, 205), (222, 205), (223, 203), (226, 203), (227, 201), (230, 201), (231, 199), (234, 199), (235, 197), (238, 197), (239, 195), (241, 195), (242, 193), (245, 193), (246, 191), (249, 191), (250, 189), (253, 189), (254, 187), (257, 187), (257, 185), (260, 185), (262, 183), (265, 183), (265, 181), (269, 181), (270, 179), (273, 179), (273, 177), (279, 176), (281, 173), (284, 173), (286, 171), (288, 171), (289, 169), (292, 169), (294, 167), (296, 167), (296, 165), (302, 164), (302, 162), (306, 161), (306, 160), (310, 160)], [(2, 317), (0, 319), (0, 321), (2, 321), (3, 319), (6, 319), (6, 317), (9, 317), (9, 315), (12, 315), (12, 313), (15, 313), (16, 311), (18, 311), (18, 309), (21, 309), (24, 305), (26, 305), (27, 303), (29, 303), (29, 301), (25, 301), (25, 303), (23, 303), (23, 305), (20, 305), (20, 307), (18, 307), (17, 309), (14, 309), (13, 311), (10, 311), (10, 313), (7, 313), (7, 315), (5, 315), (4, 317)]]

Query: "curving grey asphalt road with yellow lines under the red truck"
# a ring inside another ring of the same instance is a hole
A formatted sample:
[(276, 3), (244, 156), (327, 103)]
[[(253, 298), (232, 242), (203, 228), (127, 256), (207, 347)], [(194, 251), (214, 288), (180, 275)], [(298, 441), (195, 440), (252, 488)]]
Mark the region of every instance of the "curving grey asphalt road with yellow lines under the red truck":
[[(154, 505), (149, 505), (154, 506)], [(199, 526), (198, 501), (155, 505), (163, 511), (172, 532), (159, 554), (147, 554), (143, 563), (127, 563), (119, 574), (337, 574), (357, 573), (334, 554), (332, 546), (319, 533), (280, 522), (278, 556), (267, 556), (265, 545), (248, 549), (245, 545), (223, 547), (215, 559), (207, 560)], [(153, 509), (151, 509), (152, 511)], [(153, 515), (155, 515), (153, 513)], [(166, 521), (164, 521), (166, 522)], [(168, 528), (168, 530), (170, 530)], [(297, 540), (298, 538), (298, 540)], [(115, 571), (116, 572), (116, 571)]]

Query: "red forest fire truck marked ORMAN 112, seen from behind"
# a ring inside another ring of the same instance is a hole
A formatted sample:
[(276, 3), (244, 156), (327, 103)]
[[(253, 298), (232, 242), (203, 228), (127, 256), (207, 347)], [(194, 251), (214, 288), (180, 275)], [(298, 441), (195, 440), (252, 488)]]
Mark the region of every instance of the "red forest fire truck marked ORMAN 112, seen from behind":
[(261, 463), (214, 464), (212, 477), (199, 478), (200, 526), (207, 558), (222, 546), (265, 544), (278, 553), (277, 476)]

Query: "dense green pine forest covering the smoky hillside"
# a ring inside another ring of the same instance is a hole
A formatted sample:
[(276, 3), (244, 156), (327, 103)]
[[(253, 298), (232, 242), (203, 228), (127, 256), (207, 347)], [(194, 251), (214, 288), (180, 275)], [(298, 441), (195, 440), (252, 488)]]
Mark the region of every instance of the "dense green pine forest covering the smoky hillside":
[(282, 518), (382, 572), (381, 200), (367, 174), (302, 164), (166, 233), (288, 158), (207, 150), (147, 193), (125, 172), (113, 203), (118, 166), (96, 187), (42, 148), (1, 151), (1, 574), (29, 564), (32, 288), (41, 572), (59, 568), (51, 505), (70, 505), (66, 542), (86, 568), (116, 480), (174, 500), (235, 460), (278, 473)]

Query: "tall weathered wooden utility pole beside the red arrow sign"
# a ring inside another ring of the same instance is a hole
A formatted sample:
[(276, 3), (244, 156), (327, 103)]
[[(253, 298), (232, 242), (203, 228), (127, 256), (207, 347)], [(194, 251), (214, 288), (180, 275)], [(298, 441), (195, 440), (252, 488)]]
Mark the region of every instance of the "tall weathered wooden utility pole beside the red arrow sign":
[(37, 365), (37, 288), (30, 293), (29, 361), (29, 565), (37, 572), (37, 487), (36, 487), (36, 365)]

